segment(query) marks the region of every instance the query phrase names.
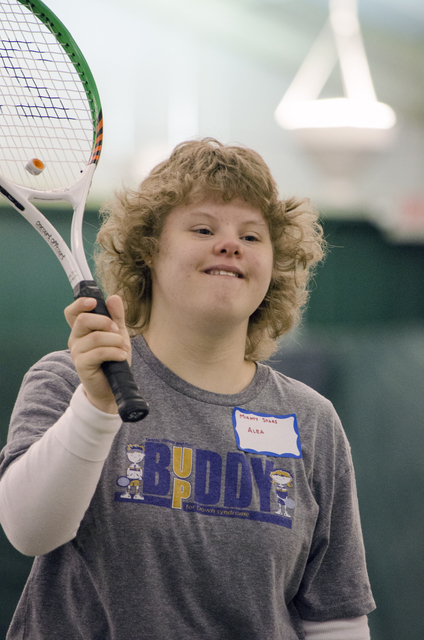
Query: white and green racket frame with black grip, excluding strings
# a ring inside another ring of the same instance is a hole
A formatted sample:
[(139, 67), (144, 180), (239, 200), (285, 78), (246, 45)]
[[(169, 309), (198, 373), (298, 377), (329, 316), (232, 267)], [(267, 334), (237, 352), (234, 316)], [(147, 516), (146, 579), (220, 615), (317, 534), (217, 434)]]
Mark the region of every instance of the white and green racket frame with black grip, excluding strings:
[[(74, 291), (74, 298), (94, 297), (93, 313), (109, 316), (103, 294), (93, 280), (87, 263), (82, 236), (85, 204), (103, 143), (103, 118), (100, 98), (88, 64), (69, 31), (41, 0), (17, 0), (49, 29), (70, 58), (83, 84), (93, 123), (91, 156), (81, 175), (66, 187), (40, 190), (18, 185), (0, 175), (0, 193), (38, 231), (59, 259)], [(71, 226), (71, 249), (60, 233), (31, 202), (63, 202), (71, 204), (74, 214)], [(115, 395), (121, 418), (127, 422), (142, 420), (149, 407), (142, 398), (127, 361), (103, 362), (102, 369)]]

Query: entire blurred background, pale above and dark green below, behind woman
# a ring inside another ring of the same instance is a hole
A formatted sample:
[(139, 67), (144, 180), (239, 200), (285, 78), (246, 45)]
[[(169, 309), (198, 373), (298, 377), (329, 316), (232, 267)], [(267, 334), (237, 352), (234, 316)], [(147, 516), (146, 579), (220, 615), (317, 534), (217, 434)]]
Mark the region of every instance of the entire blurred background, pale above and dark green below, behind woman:
[[(47, 4), (82, 49), (103, 104), (88, 251), (99, 205), (188, 138), (254, 148), (283, 197), (317, 204), (331, 251), (272, 365), (330, 398), (351, 442), (378, 607), (372, 640), (422, 640), (422, 0)], [(68, 239), (66, 213), (51, 219)], [(7, 207), (0, 270), (2, 447), (25, 371), (66, 348), (71, 289), (43, 239)], [(0, 638), (31, 563), (0, 532)]]

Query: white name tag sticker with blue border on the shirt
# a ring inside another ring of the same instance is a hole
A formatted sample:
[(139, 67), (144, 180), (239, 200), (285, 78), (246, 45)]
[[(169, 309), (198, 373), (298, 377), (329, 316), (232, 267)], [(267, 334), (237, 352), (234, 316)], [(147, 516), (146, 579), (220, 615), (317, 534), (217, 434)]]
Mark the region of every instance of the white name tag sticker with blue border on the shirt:
[(273, 416), (235, 407), (233, 426), (239, 449), (281, 458), (301, 458), (296, 414)]

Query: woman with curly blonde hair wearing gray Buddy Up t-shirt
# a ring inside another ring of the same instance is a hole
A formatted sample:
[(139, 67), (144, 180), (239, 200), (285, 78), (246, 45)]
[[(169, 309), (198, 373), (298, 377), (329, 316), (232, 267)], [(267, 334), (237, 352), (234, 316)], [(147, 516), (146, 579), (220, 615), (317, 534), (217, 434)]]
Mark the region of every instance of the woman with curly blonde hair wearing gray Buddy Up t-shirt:
[[(188, 142), (98, 239), (111, 319), (67, 308), (70, 352), (27, 374), (2, 452), (3, 527), (37, 556), (8, 640), (369, 638), (343, 429), (260, 363), (323, 255), (309, 201), (249, 149)], [(131, 356), (135, 425), (100, 369)]]

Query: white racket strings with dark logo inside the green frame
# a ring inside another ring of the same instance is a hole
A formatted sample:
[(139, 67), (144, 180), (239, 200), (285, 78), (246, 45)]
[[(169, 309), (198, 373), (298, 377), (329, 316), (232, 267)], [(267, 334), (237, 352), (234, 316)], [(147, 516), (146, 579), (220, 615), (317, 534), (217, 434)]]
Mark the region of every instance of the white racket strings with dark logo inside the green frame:
[[(36, 189), (69, 185), (89, 162), (93, 118), (80, 74), (46, 25), (0, 0), (0, 170)], [(40, 175), (26, 169), (37, 158)]]

